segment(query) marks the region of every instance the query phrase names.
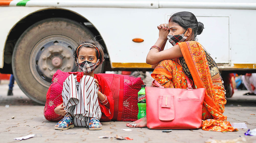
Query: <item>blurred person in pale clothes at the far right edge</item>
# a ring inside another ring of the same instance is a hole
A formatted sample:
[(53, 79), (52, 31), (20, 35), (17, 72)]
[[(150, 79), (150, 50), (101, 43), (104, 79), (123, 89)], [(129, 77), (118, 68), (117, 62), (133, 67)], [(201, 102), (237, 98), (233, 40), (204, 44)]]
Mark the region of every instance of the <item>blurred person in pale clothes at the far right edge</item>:
[(256, 73), (252, 74), (245, 74), (242, 76), (242, 81), (244, 86), (247, 90), (249, 90), (248, 93), (245, 93), (244, 95), (256, 95)]

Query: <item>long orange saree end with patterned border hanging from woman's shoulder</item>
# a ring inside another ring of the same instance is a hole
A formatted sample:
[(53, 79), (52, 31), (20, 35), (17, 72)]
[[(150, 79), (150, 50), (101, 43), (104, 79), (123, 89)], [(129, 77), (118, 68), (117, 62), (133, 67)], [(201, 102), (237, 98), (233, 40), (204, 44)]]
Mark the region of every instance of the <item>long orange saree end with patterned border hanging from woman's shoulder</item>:
[[(178, 44), (193, 77), (194, 84), (197, 88), (206, 89), (203, 106), (206, 107), (213, 119), (202, 120), (202, 129), (218, 132), (237, 131), (227, 122), (227, 116), (224, 116), (221, 109), (216, 105), (215, 87), (211, 80), (209, 66), (202, 46), (197, 41), (179, 42)], [(204, 119), (204, 113), (202, 119)]]

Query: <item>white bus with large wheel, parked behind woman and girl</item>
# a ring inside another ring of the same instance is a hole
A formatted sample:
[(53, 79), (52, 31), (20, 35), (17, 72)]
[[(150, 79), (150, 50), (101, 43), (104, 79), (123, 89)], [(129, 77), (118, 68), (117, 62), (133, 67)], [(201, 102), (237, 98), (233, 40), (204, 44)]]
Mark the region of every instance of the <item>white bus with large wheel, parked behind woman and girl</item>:
[(157, 25), (178, 11), (190, 11), (204, 24), (198, 41), (224, 79), (229, 72), (256, 71), (253, 0), (0, 0), (0, 72), (13, 73), (22, 91), (44, 104), (56, 70), (77, 70), (72, 52), (80, 36), (96, 36), (104, 46), (99, 72), (152, 70), (145, 59)]

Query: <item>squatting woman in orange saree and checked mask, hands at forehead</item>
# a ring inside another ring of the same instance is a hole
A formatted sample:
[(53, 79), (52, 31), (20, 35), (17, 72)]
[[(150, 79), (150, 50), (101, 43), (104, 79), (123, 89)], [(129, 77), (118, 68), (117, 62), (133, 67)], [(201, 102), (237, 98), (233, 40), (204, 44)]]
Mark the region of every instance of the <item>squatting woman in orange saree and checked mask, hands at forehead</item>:
[[(196, 36), (202, 33), (204, 24), (195, 15), (183, 11), (174, 13), (168, 24), (157, 26), (159, 38), (148, 52), (146, 63), (152, 65), (151, 76), (165, 88), (188, 87), (186, 76), (193, 81), (193, 88), (205, 88), (207, 93), (202, 108), (202, 129), (207, 131), (234, 131), (227, 117), (223, 116), (226, 104), (225, 89), (219, 69)], [(166, 41), (173, 45), (164, 50)], [(129, 127), (146, 127), (146, 117)]]

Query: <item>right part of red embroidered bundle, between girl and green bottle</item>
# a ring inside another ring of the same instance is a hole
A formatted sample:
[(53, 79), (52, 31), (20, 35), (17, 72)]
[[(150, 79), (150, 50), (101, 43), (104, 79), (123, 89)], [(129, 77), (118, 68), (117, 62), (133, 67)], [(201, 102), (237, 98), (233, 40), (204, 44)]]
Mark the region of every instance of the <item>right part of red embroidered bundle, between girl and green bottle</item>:
[(144, 84), (141, 78), (130, 75), (99, 74), (109, 84), (114, 98), (112, 121), (136, 121), (138, 115), (138, 92)]

